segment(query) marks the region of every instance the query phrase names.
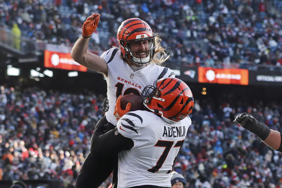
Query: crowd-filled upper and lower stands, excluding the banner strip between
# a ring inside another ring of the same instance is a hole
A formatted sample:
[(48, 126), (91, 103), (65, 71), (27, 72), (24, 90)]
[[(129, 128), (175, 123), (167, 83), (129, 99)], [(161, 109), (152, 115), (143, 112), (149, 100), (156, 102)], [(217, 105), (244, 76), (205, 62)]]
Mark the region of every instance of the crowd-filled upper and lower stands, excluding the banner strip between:
[[(237, 68), (276, 67), (281, 72), (281, 1), (197, 2), (6, 0), (0, 1), (0, 26), (12, 33), (17, 23), (22, 37), (71, 47), (83, 21), (99, 13), (89, 48), (105, 51), (117, 44), (120, 23), (139, 17), (160, 34), (172, 68), (234, 68), (230, 64), (236, 63)], [(278, 13), (268, 11), (274, 7)], [(14, 87), (0, 87), (0, 180), (61, 179), (62, 187), (74, 187), (93, 128), (103, 116), (105, 93)], [(232, 123), (237, 114), (248, 112), (282, 132), (281, 100), (265, 96), (267, 103), (256, 94), (238, 101), (231, 94), (195, 100), (192, 125), (174, 170), (187, 179), (188, 188), (282, 187), (282, 154)], [(110, 183), (111, 177), (102, 187)]]

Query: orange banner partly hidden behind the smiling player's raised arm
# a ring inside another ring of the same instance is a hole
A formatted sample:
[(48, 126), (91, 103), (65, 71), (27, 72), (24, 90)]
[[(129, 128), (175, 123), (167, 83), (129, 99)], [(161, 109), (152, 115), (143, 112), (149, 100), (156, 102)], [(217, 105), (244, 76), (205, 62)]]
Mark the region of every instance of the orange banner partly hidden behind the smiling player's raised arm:
[(60, 68), (86, 72), (87, 68), (78, 64), (71, 58), (70, 53), (44, 51), (44, 66), (48, 68)]

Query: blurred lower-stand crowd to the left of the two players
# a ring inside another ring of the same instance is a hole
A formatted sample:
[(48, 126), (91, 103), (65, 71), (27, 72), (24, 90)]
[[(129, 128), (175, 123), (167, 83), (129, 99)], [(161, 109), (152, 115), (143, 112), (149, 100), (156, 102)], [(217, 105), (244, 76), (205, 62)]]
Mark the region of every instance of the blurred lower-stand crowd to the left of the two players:
[(97, 111), (102, 96), (0, 89), (4, 109), (0, 118), (1, 179), (60, 178), (68, 182), (66, 187), (73, 186), (89, 151), (93, 128), (103, 115)]

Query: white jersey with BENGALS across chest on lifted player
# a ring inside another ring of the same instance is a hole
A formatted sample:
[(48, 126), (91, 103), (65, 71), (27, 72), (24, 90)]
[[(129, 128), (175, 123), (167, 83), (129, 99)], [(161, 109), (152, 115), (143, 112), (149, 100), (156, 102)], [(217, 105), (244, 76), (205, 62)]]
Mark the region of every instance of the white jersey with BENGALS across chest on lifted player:
[(154, 81), (160, 78), (175, 77), (169, 68), (149, 63), (145, 68), (133, 71), (132, 68), (120, 58), (120, 50), (111, 48), (105, 51), (101, 58), (104, 58), (108, 65), (107, 96), (109, 110), (105, 113), (108, 122), (117, 125), (114, 116), (115, 102), (120, 95), (133, 93), (141, 95), (147, 85), (153, 85)]

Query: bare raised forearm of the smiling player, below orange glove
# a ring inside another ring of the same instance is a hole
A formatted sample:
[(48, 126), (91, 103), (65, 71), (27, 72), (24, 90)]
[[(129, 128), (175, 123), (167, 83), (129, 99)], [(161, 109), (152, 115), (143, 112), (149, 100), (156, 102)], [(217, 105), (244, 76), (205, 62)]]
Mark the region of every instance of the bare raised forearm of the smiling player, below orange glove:
[(85, 56), (90, 38), (80, 36), (71, 49), (71, 57), (74, 61), (80, 63), (80, 59)]

